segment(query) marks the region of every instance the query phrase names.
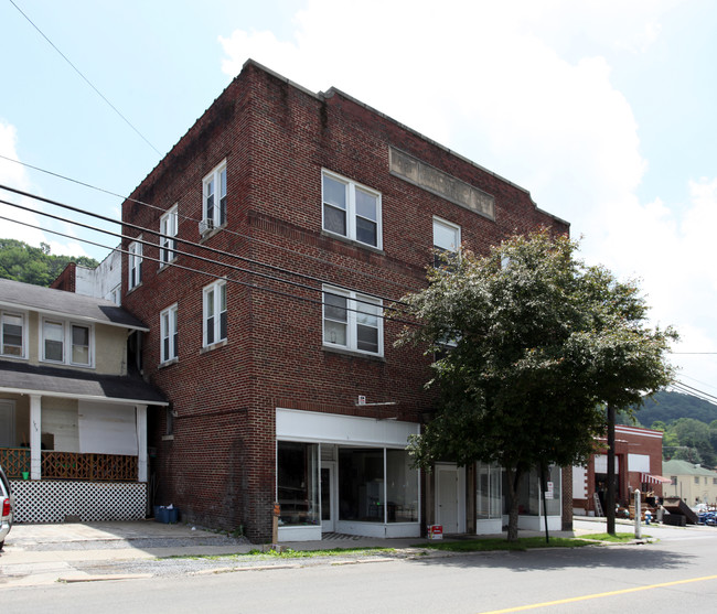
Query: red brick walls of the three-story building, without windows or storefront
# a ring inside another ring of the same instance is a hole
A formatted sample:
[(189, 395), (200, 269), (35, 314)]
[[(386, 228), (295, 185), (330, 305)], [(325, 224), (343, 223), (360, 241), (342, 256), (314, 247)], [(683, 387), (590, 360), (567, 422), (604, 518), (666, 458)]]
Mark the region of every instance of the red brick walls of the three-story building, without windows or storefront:
[[(392, 176), (389, 147), (493, 194), (495, 220)], [(539, 212), (528, 193), (420, 134), (341, 94), (313, 96), (252, 63), (131, 195), (160, 211), (127, 201), (125, 222), (158, 228), (161, 212), (179, 203), (180, 216), (193, 218), (180, 220), (180, 237), (199, 241), (202, 179), (224, 159), (228, 224), (204, 245), (373, 295), (399, 299), (424, 284), (434, 215), (459, 224), (462, 240), (477, 251), (538, 225), (568, 230)], [(322, 168), (381, 192), (382, 251), (322, 234)], [(137, 235), (130, 228), (126, 233)], [(158, 250), (146, 247), (145, 255), (157, 258)], [(163, 416), (150, 422), (151, 444), (158, 449), (158, 503), (178, 505), (184, 518), (227, 529), (243, 525), (253, 539), (269, 537), (276, 407), (409, 421), (420, 421), (431, 408), (431, 395), (424, 389), (426, 358), (415, 348), (393, 345), (402, 324), (385, 323), (383, 358), (330, 352), (322, 348), (320, 292), (184, 256), (178, 263), (261, 287), (228, 283), (227, 344), (202, 352), (202, 288), (210, 278), (159, 270), (146, 260), (139, 288), (127, 293), (122, 281), (124, 306), (152, 328), (146, 336), (145, 373), (167, 392), (178, 414), (173, 440), (162, 439)], [(174, 302), (179, 360), (158, 368), (159, 312)], [(368, 402), (397, 405), (358, 408), (358, 395)]]

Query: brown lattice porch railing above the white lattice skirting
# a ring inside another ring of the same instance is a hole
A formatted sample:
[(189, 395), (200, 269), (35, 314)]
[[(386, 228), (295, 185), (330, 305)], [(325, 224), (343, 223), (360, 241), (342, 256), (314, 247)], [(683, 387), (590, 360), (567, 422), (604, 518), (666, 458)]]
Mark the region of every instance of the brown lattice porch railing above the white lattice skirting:
[[(46, 452), (41, 455), (42, 480), (88, 480), (92, 482), (137, 482), (137, 456)], [(30, 472), (30, 450), (1, 448), (0, 464), (8, 477), (21, 478)]]

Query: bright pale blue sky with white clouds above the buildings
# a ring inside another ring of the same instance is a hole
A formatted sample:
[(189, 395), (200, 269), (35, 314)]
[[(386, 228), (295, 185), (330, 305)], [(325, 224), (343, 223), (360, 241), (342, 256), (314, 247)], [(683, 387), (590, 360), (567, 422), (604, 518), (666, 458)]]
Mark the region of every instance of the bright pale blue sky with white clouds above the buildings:
[[(715, 32), (711, 0), (0, 0), (0, 184), (119, 219), (250, 57), (528, 190), (587, 262), (639, 280), (678, 379), (717, 396)], [(119, 243), (0, 216), (53, 254)]]

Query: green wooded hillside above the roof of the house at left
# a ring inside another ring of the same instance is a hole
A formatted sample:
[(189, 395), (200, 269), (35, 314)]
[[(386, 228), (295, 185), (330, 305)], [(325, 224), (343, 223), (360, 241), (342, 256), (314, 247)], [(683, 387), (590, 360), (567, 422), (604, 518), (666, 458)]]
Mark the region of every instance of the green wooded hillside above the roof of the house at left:
[(50, 286), (71, 261), (90, 268), (99, 263), (86, 256), (54, 256), (44, 243), (32, 247), (15, 239), (0, 239), (0, 278)]

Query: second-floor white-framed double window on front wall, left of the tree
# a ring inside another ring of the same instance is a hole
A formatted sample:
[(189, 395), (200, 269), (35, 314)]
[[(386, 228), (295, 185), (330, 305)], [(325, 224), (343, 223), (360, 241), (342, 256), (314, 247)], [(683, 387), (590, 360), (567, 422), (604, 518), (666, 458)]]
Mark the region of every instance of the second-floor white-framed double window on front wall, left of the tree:
[(338, 288), (323, 288), (323, 343), (383, 356), (382, 301)]

